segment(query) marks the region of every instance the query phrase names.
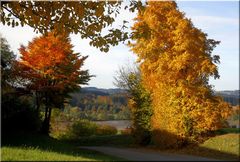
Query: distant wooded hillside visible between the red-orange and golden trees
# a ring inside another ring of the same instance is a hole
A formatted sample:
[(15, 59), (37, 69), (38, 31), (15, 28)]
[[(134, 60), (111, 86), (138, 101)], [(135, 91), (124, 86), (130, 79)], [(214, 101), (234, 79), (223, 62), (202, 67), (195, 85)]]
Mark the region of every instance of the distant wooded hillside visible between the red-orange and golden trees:
[(71, 94), (69, 106), (78, 109), (78, 116), (89, 120), (130, 119), (127, 94), (123, 92), (106, 93), (82, 88)]

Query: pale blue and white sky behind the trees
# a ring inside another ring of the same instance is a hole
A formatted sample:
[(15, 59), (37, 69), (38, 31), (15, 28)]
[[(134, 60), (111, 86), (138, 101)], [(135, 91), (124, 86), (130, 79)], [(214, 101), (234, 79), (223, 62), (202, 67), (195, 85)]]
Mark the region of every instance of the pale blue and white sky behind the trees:
[[(238, 90), (239, 89), (239, 2), (238, 1), (177, 1), (179, 10), (190, 18), (195, 27), (208, 34), (208, 38), (221, 41), (213, 54), (220, 56), (218, 65), (220, 79), (210, 78), (210, 84), (214, 90)], [(133, 25), (135, 13), (125, 10), (120, 11), (113, 26), (118, 26), (122, 20), (129, 21), (129, 27)], [(19, 56), (18, 48), (21, 44), (27, 45), (39, 34), (34, 33), (30, 27), (9, 27), (0, 24), (0, 33), (7, 39), (11, 49)], [(89, 40), (80, 38), (80, 35), (72, 34), (71, 43), (74, 52), (88, 55), (84, 69), (88, 69), (91, 75), (96, 75), (87, 86), (98, 88), (116, 88), (113, 81), (119, 67), (132, 64), (137, 57), (124, 45), (111, 47), (108, 53), (91, 47)]]

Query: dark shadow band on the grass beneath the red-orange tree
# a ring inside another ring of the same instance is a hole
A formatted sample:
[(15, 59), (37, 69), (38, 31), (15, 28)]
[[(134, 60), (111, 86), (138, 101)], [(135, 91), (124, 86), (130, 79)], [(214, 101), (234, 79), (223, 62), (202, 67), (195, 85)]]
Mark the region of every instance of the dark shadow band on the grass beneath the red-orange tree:
[(25, 148), (38, 148), (42, 151), (56, 152), (65, 155), (71, 155), (74, 157), (81, 156), (83, 158), (89, 158), (92, 160), (100, 161), (113, 161), (123, 160), (120, 158), (101, 154), (97, 151), (90, 151), (79, 149), (78, 145), (74, 145), (72, 142), (60, 141), (51, 138), (46, 135), (37, 133), (18, 133), (2, 135), (2, 146), (1, 147), (25, 147)]

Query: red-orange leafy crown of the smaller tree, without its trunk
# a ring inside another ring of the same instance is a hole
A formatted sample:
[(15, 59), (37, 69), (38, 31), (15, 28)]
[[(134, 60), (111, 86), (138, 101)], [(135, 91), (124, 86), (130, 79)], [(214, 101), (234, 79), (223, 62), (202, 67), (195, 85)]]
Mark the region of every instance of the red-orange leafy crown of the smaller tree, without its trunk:
[(33, 39), (27, 47), (21, 46), (21, 73), (30, 81), (26, 86), (38, 91), (71, 91), (78, 84), (87, 84), (88, 71), (80, 69), (87, 57), (73, 53), (72, 48), (67, 35), (54, 32)]

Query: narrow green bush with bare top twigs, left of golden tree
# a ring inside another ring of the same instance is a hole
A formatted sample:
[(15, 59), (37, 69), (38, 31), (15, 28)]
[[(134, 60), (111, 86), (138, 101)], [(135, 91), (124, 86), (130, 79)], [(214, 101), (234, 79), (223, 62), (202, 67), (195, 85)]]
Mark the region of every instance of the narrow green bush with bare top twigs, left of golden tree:
[(120, 68), (115, 85), (125, 88), (130, 94), (129, 107), (132, 119), (132, 135), (135, 142), (141, 145), (149, 144), (151, 140), (150, 119), (152, 116), (150, 94), (143, 87), (138, 67)]

